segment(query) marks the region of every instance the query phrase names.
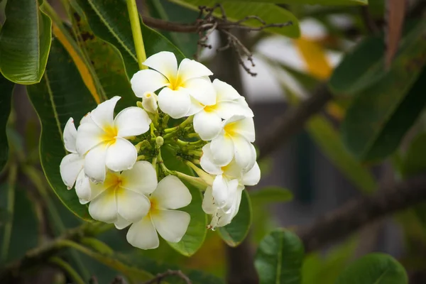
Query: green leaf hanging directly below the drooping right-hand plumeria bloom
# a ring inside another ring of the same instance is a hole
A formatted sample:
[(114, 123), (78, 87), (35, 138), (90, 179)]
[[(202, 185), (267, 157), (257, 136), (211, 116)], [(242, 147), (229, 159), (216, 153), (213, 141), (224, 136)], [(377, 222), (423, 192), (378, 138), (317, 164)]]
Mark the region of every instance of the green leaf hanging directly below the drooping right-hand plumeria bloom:
[(250, 195), (247, 190), (243, 190), (238, 213), (232, 219), (231, 224), (219, 227), (217, 232), (226, 244), (229, 246), (238, 246), (246, 239), (247, 234), (249, 234), (251, 219)]

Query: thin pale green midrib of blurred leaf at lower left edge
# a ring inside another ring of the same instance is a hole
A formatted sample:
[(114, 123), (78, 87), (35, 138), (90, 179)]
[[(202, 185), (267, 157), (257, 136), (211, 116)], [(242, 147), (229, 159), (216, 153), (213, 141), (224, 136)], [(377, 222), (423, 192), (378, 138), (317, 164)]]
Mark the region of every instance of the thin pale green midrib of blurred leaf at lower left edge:
[(7, 189), (7, 213), (9, 215), (8, 222), (4, 225), (3, 245), (1, 246), (0, 263), (6, 262), (9, 252), (9, 244), (11, 241), (13, 226), (13, 209), (15, 205), (15, 184), (18, 165), (12, 160), (9, 166), (8, 189)]

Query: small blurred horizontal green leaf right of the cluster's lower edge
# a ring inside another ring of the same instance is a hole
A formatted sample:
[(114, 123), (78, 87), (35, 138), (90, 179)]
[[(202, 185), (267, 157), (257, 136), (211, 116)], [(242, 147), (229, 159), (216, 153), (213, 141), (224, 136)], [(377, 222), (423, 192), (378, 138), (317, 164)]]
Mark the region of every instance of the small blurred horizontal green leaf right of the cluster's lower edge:
[(290, 190), (275, 186), (262, 187), (256, 191), (251, 190), (249, 195), (253, 206), (293, 200), (293, 193)]

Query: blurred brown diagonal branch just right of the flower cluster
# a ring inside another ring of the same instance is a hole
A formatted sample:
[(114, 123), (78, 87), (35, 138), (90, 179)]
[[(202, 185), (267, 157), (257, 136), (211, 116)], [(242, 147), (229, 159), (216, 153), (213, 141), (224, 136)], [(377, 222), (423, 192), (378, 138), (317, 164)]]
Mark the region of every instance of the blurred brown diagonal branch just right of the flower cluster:
[(275, 119), (268, 128), (268, 133), (265, 133), (261, 141), (257, 143), (259, 148), (258, 160), (265, 158), (277, 148), (282, 147), (289, 138), (305, 126), (307, 119), (320, 111), (331, 99), (332, 94), (329, 92), (327, 84), (321, 84), (311, 97), (297, 107), (292, 107), (285, 111), (282, 116)]

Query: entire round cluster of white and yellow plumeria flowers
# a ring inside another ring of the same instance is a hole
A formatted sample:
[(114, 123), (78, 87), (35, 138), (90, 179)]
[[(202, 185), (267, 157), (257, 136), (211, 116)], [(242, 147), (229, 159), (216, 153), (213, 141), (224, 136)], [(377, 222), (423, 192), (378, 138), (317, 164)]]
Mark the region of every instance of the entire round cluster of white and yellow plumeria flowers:
[[(143, 64), (151, 69), (131, 79), (142, 98), (137, 107), (114, 117), (120, 97), (113, 97), (84, 116), (77, 129), (72, 118), (67, 121), (63, 141), (70, 153), (60, 174), (80, 203), (89, 204), (94, 219), (117, 229), (130, 226), (130, 244), (154, 249), (158, 234), (178, 242), (190, 224), (190, 214), (176, 210), (192, 200), (181, 180), (204, 191), (202, 209), (212, 214), (214, 229), (235, 217), (244, 186), (256, 185), (260, 170), (251, 144), (253, 112), (233, 87), (211, 82), (212, 72), (195, 60), (184, 59), (178, 67), (173, 53), (157, 53)], [(166, 150), (198, 177), (168, 169)]]

